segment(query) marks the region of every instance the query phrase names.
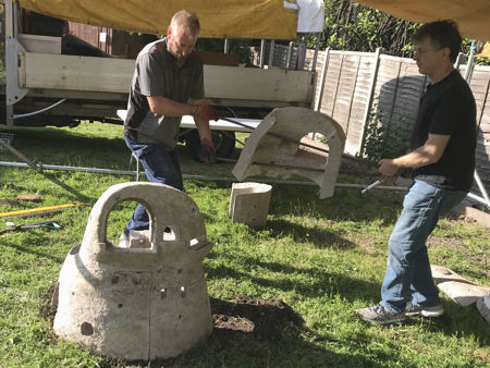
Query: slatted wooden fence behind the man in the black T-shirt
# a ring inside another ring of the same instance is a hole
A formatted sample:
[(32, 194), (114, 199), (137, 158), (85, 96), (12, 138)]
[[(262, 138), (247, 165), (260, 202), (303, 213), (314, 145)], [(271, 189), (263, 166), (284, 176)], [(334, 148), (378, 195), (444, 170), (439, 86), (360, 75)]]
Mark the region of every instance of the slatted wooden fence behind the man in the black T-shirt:
[[(313, 51), (308, 50), (308, 59)], [(322, 68), (324, 84), (320, 88)], [(409, 136), (419, 99), (428, 78), (418, 73), (411, 59), (383, 53), (322, 51), (318, 56), (315, 106), (322, 90), (320, 111), (335, 119), (344, 128), (345, 151), (358, 155), (365, 143), (370, 116), (400, 127)], [(466, 65), (458, 68), (464, 75)], [(490, 188), (490, 66), (477, 65), (469, 84), (477, 105), (477, 171)]]

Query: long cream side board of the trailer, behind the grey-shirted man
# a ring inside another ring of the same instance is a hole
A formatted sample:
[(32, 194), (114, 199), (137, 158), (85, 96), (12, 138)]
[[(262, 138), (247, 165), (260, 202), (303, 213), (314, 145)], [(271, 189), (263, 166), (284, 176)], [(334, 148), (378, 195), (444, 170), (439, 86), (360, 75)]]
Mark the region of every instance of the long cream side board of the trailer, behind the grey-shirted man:
[[(50, 65), (50, 68), (46, 68)], [(127, 93), (134, 60), (21, 53), (26, 88)], [(207, 98), (310, 102), (313, 72), (205, 65)]]

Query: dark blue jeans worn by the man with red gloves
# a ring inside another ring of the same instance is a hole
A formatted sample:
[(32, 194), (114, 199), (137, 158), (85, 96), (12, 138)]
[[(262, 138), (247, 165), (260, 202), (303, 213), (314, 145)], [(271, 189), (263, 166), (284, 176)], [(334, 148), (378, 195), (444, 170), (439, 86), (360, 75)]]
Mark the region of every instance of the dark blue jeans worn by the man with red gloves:
[[(145, 169), (146, 177), (151, 183), (161, 183), (182, 191), (181, 165), (175, 149), (168, 151), (164, 146), (155, 143), (137, 143), (124, 136), (127, 147), (137, 157)], [(145, 207), (138, 205), (124, 229), (130, 235), (131, 230), (149, 229), (149, 218)]]

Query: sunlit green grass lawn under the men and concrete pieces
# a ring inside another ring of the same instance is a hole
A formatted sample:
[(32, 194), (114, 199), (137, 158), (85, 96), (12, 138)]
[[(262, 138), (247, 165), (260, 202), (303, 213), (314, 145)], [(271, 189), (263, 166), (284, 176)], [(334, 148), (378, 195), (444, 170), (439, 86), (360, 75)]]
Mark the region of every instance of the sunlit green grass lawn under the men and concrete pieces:
[[(0, 126), (0, 132), (9, 131)], [(76, 128), (15, 128), (12, 145), (46, 164), (126, 170), (130, 152), (122, 127), (83, 123)], [(193, 162), (180, 149), (183, 172), (232, 176), (231, 163)], [(236, 149), (235, 156), (240, 155)], [(0, 160), (12, 161), (0, 152)], [(0, 367), (123, 367), (58, 340), (50, 298), (68, 252), (82, 243), (90, 207), (111, 185), (131, 176), (48, 171), (72, 188), (34, 170), (0, 167), (0, 199), (38, 194), (40, 204), (0, 206), (0, 212), (61, 205), (85, 205), (60, 213), (9, 219), (16, 224), (61, 219), (59, 231), (34, 229), (0, 235)], [(362, 182), (340, 175), (339, 181)], [(485, 367), (490, 365), (490, 327), (473, 307), (443, 295), (446, 314), (437, 320), (411, 318), (402, 326), (371, 327), (355, 308), (379, 300), (387, 241), (402, 196), (338, 189), (320, 200), (315, 186), (274, 186), (268, 224), (253, 230), (228, 217), (229, 182), (186, 180), (215, 243), (205, 260), (212, 311), (230, 311), (238, 296), (281, 299), (278, 308), (249, 305), (237, 318), (261, 318), (253, 332), (215, 329), (199, 346), (168, 361), (175, 367)], [(133, 204), (111, 213), (108, 237), (115, 240)], [(476, 223), (442, 219), (429, 242), (431, 261), (479, 285), (490, 286), (490, 231)], [(247, 315), (248, 314), (248, 315)], [(248, 316), (248, 317), (247, 317)], [(138, 363), (131, 365), (137, 366)], [(139, 363), (145, 366), (145, 364)]]

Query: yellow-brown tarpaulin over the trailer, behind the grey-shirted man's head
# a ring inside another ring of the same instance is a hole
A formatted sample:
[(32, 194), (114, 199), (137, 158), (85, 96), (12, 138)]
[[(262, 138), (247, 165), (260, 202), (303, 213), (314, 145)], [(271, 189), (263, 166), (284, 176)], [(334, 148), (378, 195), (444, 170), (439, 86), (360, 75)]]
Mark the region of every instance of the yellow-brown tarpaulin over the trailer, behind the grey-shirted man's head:
[[(297, 11), (283, 0), (17, 0), (22, 8), (65, 21), (163, 35), (186, 9), (200, 37), (296, 39)], [(286, 2), (294, 2), (286, 0)]]

